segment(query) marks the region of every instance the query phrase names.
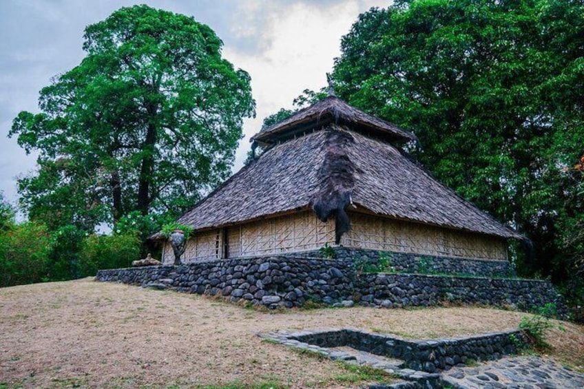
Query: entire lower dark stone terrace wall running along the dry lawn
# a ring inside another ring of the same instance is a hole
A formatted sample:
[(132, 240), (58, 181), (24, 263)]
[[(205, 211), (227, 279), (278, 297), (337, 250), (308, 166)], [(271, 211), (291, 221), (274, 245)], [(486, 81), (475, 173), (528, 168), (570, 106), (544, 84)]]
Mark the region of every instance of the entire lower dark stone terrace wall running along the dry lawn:
[(384, 308), (444, 302), (512, 306), (530, 311), (554, 302), (567, 312), (550, 282), (421, 274), (359, 274), (352, 261), (290, 257), (239, 258), (181, 266), (98, 271), (96, 280), (186, 293), (222, 295), (269, 308), (307, 300), (335, 306)]

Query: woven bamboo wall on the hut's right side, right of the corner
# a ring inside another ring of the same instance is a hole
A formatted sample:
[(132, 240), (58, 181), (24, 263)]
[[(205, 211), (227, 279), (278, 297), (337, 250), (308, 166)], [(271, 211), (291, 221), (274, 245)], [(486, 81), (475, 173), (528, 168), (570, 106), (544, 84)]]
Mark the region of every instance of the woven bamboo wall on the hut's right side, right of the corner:
[(359, 213), (350, 213), (349, 217), (351, 231), (342, 237), (344, 246), (480, 260), (507, 259), (507, 244), (502, 238)]

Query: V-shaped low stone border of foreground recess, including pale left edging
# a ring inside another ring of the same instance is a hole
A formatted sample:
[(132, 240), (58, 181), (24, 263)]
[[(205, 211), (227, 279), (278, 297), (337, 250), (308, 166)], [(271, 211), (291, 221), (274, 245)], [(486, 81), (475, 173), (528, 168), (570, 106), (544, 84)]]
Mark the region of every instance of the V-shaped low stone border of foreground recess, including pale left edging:
[(443, 370), (450, 370), (455, 366), (465, 367), (464, 363), (469, 359), (475, 361), (499, 359), (503, 355), (516, 353), (516, 345), (526, 344), (520, 330), (436, 340), (402, 339), (393, 335), (379, 335), (352, 329), (280, 331), (258, 334), (258, 336), (298, 350), (308, 350), (333, 360), (349, 363), (357, 363), (354, 355), (328, 348), (349, 346), (373, 355), (401, 359), (404, 363), (397, 365), (382, 360), (370, 361), (375, 368), (408, 381), (370, 388), (393, 389), (442, 388), (444, 382), (440, 373)]

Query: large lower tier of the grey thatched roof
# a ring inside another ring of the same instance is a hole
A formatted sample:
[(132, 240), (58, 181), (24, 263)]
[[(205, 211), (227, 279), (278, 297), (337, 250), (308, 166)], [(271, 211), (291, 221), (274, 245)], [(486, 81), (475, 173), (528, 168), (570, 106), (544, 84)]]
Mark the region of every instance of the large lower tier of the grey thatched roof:
[[(340, 132), (342, 136), (335, 136)], [(338, 146), (348, 158), (350, 167), (344, 163), (342, 169), (350, 171), (350, 185), (342, 182), (342, 174), (332, 184), (323, 179), (323, 169), (334, 165), (326, 158), (337, 158), (330, 152), (334, 143), (342, 143)], [(350, 191), (355, 204), (389, 218), (521, 238), (441, 185), (393, 145), (337, 125), (275, 145), (179, 222), (207, 229), (308, 209), (328, 190), (325, 185), (333, 185), (338, 193)]]

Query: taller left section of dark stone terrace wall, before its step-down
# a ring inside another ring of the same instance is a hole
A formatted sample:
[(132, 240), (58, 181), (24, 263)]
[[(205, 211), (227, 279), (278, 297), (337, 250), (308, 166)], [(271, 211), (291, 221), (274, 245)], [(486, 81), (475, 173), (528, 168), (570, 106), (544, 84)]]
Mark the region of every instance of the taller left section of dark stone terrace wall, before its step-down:
[(354, 291), (350, 262), (284, 256), (101, 270), (96, 279), (222, 295), (270, 308), (302, 306), (307, 299), (332, 304)]

